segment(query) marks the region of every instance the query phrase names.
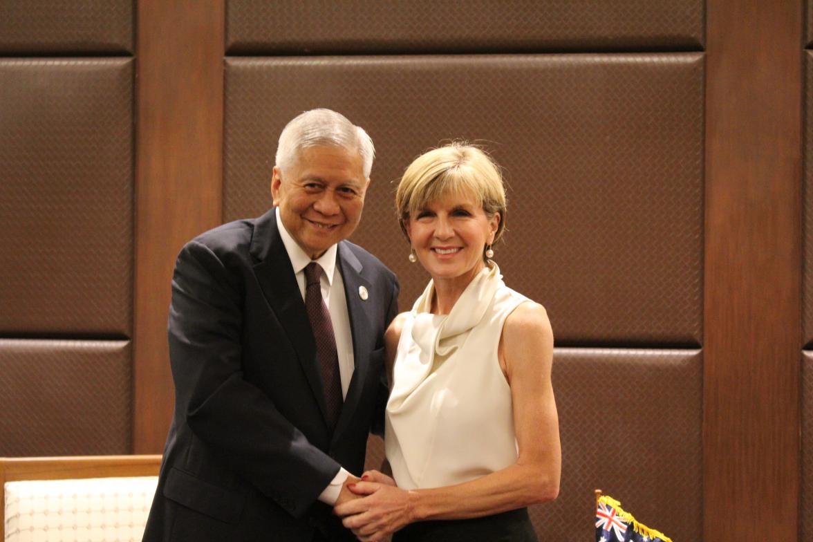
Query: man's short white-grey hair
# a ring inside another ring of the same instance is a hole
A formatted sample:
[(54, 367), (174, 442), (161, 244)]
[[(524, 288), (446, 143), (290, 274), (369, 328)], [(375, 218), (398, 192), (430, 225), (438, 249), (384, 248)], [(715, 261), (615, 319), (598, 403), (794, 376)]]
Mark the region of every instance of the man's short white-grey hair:
[(329, 109), (305, 111), (285, 125), (276, 145), (276, 167), (287, 171), (296, 162), (300, 150), (317, 145), (333, 145), (358, 152), (364, 178), (369, 178), (372, 158), (376, 155), (372, 139), (345, 115)]

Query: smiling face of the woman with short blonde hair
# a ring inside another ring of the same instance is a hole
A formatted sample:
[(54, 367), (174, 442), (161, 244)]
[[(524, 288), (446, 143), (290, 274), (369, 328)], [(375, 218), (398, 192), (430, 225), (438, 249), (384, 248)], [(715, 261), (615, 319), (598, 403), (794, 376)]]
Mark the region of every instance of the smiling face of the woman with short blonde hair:
[(449, 194), (419, 209), (406, 232), (420, 264), (435, 282), (468, 284), (483, 268), (483, 249), (493, 242), (499, 214), (489, 219), (472, 194)]

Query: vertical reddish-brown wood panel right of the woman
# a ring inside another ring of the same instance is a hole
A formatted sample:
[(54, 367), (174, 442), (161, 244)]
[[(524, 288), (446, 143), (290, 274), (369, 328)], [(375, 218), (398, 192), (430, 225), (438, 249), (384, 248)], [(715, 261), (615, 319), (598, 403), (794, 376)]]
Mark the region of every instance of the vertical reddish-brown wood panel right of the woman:
[(802, 5), (707, 14), (704, 539), (797, 540)]

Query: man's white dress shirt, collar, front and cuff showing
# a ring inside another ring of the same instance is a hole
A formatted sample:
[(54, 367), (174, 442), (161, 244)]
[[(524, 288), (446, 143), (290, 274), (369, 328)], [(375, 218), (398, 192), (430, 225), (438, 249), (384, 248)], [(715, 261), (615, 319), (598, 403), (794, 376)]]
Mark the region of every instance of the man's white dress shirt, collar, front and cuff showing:
[[(320, 258), (311, 260), (302, 247), (293, 240), (293, 237), (285, 229), (285, 224), (280, 219), (280, 210), (276, 209), (276, 227), (280, 230), (282, 244), (296, 275), (299, 293), (302, 301), (305, 300), (305, 267), (315, 261), (324, 271), (320, 277), (322, 287), (322, 299), (328, 306), (330, 321), (333, 323), (333, 336), (336, 337), (336, 352), (339, 358), (339, 375), (341, 377), (341, 397), (347, 397), (347, 388), (350, 388), (350, 379), (353, 377), (355, 362), (353, 356), (353, 336), (350, 332), (350, 315), (347, 314), (347, 299), (345, 297), (345, 283), (341, 279), (339, 267), (336, 265), (337, 246), (333, 245), (325, 251)], [(341, 492), (341, 485), (345, 483), (350, 475), (344, 468), (339, 469), (337, 475), (331, 483), (320, 494), (319, 500), (328, 504), (336, 504)]]

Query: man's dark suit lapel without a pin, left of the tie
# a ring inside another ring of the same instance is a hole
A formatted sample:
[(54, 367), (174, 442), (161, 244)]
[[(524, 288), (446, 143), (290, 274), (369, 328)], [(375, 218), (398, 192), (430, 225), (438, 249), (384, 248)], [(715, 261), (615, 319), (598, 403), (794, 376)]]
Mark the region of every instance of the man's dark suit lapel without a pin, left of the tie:
[(275, 210), (269, 210), (254, 223), (250, 252), (256, 260), (254, 274), (268, 305), (276, 314), (277, 321), (285, 328), (285, 336), (296, 350), (302, 371), (311, 385), (315, 401), (322, 416), (327, 420), (322, 379), (316, 360), (316, 345), (307, 317), (305, 303), (299, 293), (296, 276), (293, 275), (288, 252), (276, 228)]

